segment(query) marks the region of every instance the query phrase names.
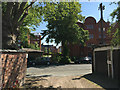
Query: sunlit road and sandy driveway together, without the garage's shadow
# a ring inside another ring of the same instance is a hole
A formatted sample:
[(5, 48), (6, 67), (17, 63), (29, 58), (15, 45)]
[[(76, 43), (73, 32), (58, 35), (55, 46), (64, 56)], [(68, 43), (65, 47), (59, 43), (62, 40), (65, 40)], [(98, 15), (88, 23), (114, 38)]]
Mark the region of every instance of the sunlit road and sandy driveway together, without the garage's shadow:
[[(91, 73), (91, 64), (69, 64), (27, 68), (26, 88), (84, 88), (82, 75)], [(92, 88), (96, 85), (92, 85)]]

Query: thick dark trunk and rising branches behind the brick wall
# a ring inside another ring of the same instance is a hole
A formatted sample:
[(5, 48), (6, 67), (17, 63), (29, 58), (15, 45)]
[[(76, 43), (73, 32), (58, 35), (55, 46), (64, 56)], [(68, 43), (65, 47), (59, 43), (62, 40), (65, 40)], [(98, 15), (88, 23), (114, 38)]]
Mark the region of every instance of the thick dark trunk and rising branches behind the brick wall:
[(19, 26), (22, 25), (23, 20), (28, 15), (28, 10), (35, 1), (26, 8), (24, 7), (27, 2), (7, 2), (6, 11), (2, 14), (2, 49), (18, 48)]

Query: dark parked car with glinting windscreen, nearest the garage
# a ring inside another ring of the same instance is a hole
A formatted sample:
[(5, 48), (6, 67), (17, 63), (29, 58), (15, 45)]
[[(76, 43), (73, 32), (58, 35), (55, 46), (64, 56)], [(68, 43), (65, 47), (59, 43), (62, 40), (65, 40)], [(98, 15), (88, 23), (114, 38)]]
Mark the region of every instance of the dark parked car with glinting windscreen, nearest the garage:
[(76, 64), (90, 64), (90, 63), (92, 63), (92, 58), (91, 58), (91, 57), (88, 57), (88, 56), (86, 56), (86, 57), (81, 57), (81, 58), (79, 58), (79, 59), (76, 59), (76, 60), (75, 60), (75, 63), (76, 63)]

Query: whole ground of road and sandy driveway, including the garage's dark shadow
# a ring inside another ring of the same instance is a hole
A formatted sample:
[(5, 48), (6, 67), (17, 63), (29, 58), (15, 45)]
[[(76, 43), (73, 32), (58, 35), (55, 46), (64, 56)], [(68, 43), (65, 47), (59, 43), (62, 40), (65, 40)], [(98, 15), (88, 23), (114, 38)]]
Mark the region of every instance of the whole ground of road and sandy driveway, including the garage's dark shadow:
[[(91, 64), (39, 66), (27, 69), (23, 88), (116, 88), (113, 81), (92, 75)], [(111, 83), (113, 82), (113, 83)], [(79, 90), (78, 89), (78, 90)]]

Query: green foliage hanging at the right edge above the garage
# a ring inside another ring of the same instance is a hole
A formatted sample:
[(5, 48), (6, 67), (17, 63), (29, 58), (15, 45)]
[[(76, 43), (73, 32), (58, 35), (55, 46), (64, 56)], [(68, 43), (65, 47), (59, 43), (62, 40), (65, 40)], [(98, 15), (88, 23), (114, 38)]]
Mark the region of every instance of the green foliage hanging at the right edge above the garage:
[[(117, 9), (115, 9), (112, 13), (112, 20), (116, 17), (116, 22), (111, 25), (111, 27), (108, 30), (108, 33), (110, 36), (112, 36), (112, 44), (113, 45), (120, 45), (120, 1), (117, 2)], [(117, 28), (114, 26), (118, 25)]]

